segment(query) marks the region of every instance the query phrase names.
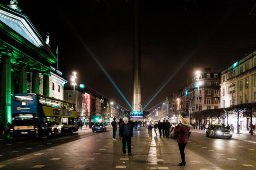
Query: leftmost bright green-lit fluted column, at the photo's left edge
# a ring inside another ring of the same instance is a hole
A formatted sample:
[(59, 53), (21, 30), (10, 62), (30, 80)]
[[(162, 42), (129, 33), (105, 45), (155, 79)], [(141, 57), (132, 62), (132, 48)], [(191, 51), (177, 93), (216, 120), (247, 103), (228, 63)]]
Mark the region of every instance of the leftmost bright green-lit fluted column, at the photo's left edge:
[(0, 94), (1, 123), (11, 123), (11, 57), (2, 54), (2, 79)]

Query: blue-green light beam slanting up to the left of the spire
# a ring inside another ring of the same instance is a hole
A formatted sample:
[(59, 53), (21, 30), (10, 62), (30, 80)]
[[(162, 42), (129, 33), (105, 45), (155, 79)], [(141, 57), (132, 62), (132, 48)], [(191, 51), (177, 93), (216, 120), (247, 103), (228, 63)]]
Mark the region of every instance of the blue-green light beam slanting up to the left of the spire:
[[(66, 18), (65, 18), (66, 20)], [(100, 69), (102, 69), (102, 71), (105, 73), (105, 75), (108, 77), (108, 79), (110, 80), (110, 82), (115, 86), (115, 88), (117, 89), (117, 91), (120, 93), (120, 95), (122, 96), (122, 98), (126, 101), (126, 103), (130, 106), (130, 108), (133, 110), (132, 106), (129, 104), (129, 102), (127, 101), (127, 99), (124, 97), (124, 95), (122, 94), (121, 90), (117, 87), (117, 85), (115, 84), (114, 80), (110, 77), (110, 75), (107, 73), (107, 71), (105, 70), (105, 68), (100, 64), (99, 60), (96, 58), (96, 56), (93, 54), (93, 52), (91, 51), (91, 49), (89, 49), (89, 47), (85, 44), (85, 42), (83, 41), (83, 39), (81, 38), (81, 36), (76, 32), (76, 30), (74, 29), (74, 27), (66, 20), (67, 24), (69, 25), (69, 27), (71, 28), (71, 30), (73, 31), (73, 33), (76, 35), (76, 38), (78, 38), (78, 40), (80, 40), (80, 42), (82, 43), (83, 47), (88, 51), (88, 53), (91, 55), (91, 57), (95, 60), (96, 64), (98, 64), (98, 66), (100, 67)]]

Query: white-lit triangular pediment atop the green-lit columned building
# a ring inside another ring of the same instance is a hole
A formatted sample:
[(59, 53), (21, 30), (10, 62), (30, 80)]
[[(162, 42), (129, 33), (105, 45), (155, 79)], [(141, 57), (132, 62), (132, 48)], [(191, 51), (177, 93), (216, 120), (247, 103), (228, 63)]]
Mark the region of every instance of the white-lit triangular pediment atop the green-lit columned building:
[(35, 46), (39, 48), (44, 46), (41, 37), (35, 31), (26, 15), (1, 5), (0, 21), (19, 33), (19, 35), (24, 37)]

